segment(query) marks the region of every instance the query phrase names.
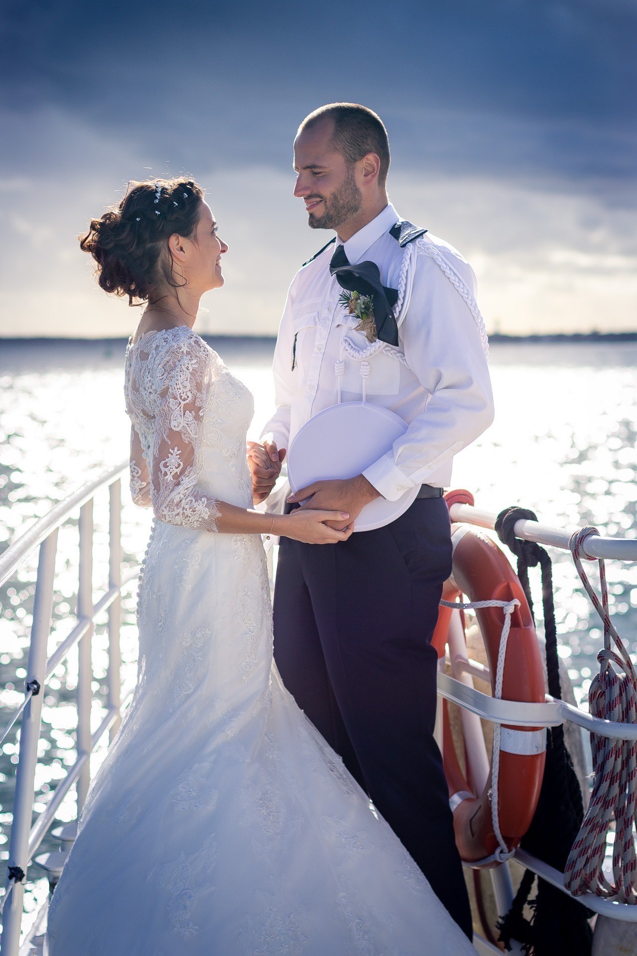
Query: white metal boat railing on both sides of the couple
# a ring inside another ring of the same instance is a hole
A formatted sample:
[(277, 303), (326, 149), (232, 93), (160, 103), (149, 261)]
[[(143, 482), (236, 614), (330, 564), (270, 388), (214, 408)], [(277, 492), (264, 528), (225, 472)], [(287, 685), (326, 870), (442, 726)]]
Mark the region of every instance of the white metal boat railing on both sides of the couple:
[[(120, 653), (119, 623), (120, 596), (123, 588), (138, 576), (138, 569), (121, 574), (121, 485), (120, 478), (128, 463), (112, 468), (74, 492), (64, 502), (56, 505), (47, 515), (35, 522), (18, 541), (4, 554), (0, 555), (0, 585), (7, 581), (25, 559), (39, 546), (39, 559), (33, 618), (31, 646), (27, 677), (25, 680), (25, 699), (18, 706), (6, 728), (0, 733), (0, 743), (5, 739), (15, 722), (22, 716), (20, 747), (16, 768), (15, 794), (13, 799), (13, 822), (9, 851), (8, 887), (2, 901), (3, 933), (0, 941), (1, 956), (17, 956), (20, 947), (20, 931), (24, 897), (24, 880), (32, 855), (46, 836), (53, 817), (66, 794), (76, 784), (77, 812), (81, 810), (90, 782), (89, 758), (97, 742), (107, 730), (113, 739), (120, 721), (122, 708), (120, 689)], [(93, 501), (96, 491), (109, 489), (109, 581), (107, 590), (96, 600), (93, 595)], [(79, 574), (77, 588), (76, 623), (71, 633), (55, 648), (47, 660), (47, 644), (51, 632), (53, 608), (53, 575), (57, 549), (57, 532), (79, 509)], [(454, 504), (451, 506), (452, 521), (493, 529), (496, 515), (482, 511), (472, 505)], [(576, 529), (573, 529), (573, 531)], [(515, 531), (523, 540), (536, 541), (551, 547), (568, 549), (571, 532), (549, 528), (541, 523), (520, 520)], [(273, 539), (266, 542), (273, 544)], [(586, 554), (591, 558), (605, 557), (622, 560), (637, 560), (637, 540), (591, 536), (584, 542)], [(271, 567), (272, 554), (268, 554)], [(91, 703), (93, 668), (91, 660), (94, 621), (102, 612), (108, 610), (108, 673), (106, 714), (96, 730), (91, 732)], [(453, 618), (457, 617), (455, 612)], [(452, 674), (438, 673), (437, 689), (440, 697), (446, 698), (462, 708), (465, 731), (472, 741), (481, 741), (484, 752), (475, 749), (472, 768), (476, 778), (484, 775), (488, 758), (481, 733), (479, 720), (507, 725), (555, 727), (563, 721), (570, 721), (581, 728), (609, 737), (637, 739), (637, 727), (602, 721), (592, 717), (577, 707), (564, 701), (557, 701), (546, 695), (543, 704), (529, 704), (512, 701), (500, 701), (480, 693), (473, 685), (473, 678), (489, 680), (489, 670), (483, 664), (471, 661), (467, 657), (466, 644), (459, 640), (457, 621), (452, 621), (450, 632), (456, 635), (450, 640), (450, 663)], [(76, 692), (77, 706), (77, 758), (74, 765), (59, 781), (52, 799), (32, 825), (32, 805), (34, 796), (34, 774), (37, 763), (37, 744), (40, 735), (40, 717), (44, 686), (59, 663), (64, 661), (71, 649), (78, 644), (78, 681)], [(479, 730), (479, 734), (478, 734)], [(474, 750), (474, 748), (472, 748)], [(549, 867), (540, 859), (519, 850), (516, 858), (524, 866), (540, 874), (555, 886), (567, 891), (563, 886), (563, 874)], [(500, 871), (500, 877), (497, 874)], [(512, 887), (508, 879), (506, 864), (492, 872), (494, 889), (500, 913), (505, 912), (512, 900)], [(11, 879), (11, 873), (13, 878)], [(615, 919), (637, 922), (637, 906), (617, 903), (587, 893), (577, 898), (592, 910)], [(39, 923), (39, 915), (33, 925)], [(480, 941), (482, 942), (482, 941)], [(486, 951), (486, 950), (485, 950)]]

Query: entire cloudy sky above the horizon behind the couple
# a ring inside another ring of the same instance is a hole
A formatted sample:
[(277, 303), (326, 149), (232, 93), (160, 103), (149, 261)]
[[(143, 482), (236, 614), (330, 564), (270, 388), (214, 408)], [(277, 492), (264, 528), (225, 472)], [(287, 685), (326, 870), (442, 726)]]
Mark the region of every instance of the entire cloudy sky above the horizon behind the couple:
[(489, 331), (637, 330), (635, 0), (4, 0), (0, 337), (120, 337), (77, 236), (186, 171), (230, 250), (199, 328), (274, 335), (331, 233), (292, 189), (317, 106), (372, 107), (389, 194), (478, 276)]

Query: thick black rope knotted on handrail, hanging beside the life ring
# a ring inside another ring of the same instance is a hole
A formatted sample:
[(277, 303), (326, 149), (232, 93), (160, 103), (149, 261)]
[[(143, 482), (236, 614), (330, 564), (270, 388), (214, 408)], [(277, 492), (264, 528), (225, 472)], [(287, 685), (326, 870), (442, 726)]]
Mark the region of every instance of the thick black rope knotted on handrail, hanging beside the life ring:
[[(515, 526), (520, 519), (538, 520), (537, 515), (526, 508), (505, 508), (498, 515), (496, 531), (500, 541), (518, 558), (518, 577), (532, 615), (533, 600), (528, 569), (540, 565), (548, 692), (552, 697), (561, 700), (562, 684), (551, 558), (535, 541), (521, 541), (516, 537)], [(564, 743), (563, 724), (547, 728), (547, 731), (546, 763), (540, 799), (531, 826), (522, 837), (520, 846), (534, 857), (563, 872), (575, 837), (582, 826), (584, 804), (577, 774)], [(511, 909), (498, 923), (500, 941), (510, 949), (511, 940), (518, 940), (527, 956), (563, 956), (566, 952), (589, 956), (592, 931), (587, 920), (592, 915), (590, 910), (540, 879), (537, 896), (529, 902), (534, 882), (535, 874), (526, 870)], [(531, 921), (522, 915), (525, 904), (534, 910)]]

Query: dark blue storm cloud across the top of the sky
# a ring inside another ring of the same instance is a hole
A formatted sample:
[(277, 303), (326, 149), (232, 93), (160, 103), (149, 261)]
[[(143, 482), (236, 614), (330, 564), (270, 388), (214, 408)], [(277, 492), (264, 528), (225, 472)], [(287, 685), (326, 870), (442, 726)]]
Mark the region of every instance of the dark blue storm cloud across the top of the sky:
[(306, 113), (350, 99), (380, 112), (403, 163), (635, 174), (628, 0), (7, 9), (8, 101), (53, 104), (171, 163), (287, 162)]

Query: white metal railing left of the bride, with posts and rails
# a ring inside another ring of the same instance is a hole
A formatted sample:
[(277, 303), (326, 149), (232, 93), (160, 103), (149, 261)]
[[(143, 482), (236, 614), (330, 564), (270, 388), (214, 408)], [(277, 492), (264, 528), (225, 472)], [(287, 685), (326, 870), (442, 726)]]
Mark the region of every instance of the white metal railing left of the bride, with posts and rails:
[[(98, 475), (93, 481), (74, 492), (40, 518), (14, 544), (0, 555), (0, 585), (14, 575), (35, 548), (39, 546), (31, 645), (25, 699), (0, 735), (5, 739), (15, 722), (22, 717), (18, 763), (15, 773), (15, 792), (9, 845), (7, 889), (2, 901), (2, 956), (16, 956), (20, 947), (23, 899), (27, 868), (42, 839), (53, 823), (54, 815), (66, 794), (75, 784), (77, 814), (79, 815), (90, 783), (89, 758), (97, 742), (111, 732), (113, 739), (120, 722), (122, 708), (120, 687), (120, 601), (122, 589), (138, 576), (138, 569), (121, 573), (121, 475), (128, 462)], [(106, 591), (94, 600), (93, 594), (93, 503), (96, 491), (109, 489), (109, 579)], [(47, 660), (47, 645), (51, 634), (53, 588), (57, 532), (79, 509), (79, 564), (77, 584), (76, 623), (68, 637), (55, 648)], [(106, 714), (96, 730), (91, 732), (93, 701), (92, 641), (94, 621), (108, 611), (108, 672)], [(77, 758), (73, 766), (57, 784), (46, 809), (32, 824), (34, 779), (37, 747), (40, 738), (41, 710), (44, 688), (59, 663), (64, 661), (77, 644), (78, 676), (76, 688)], [(124, 702), (125, 703), (125, 702)], [(39, 916), (39, 915), (38, 915)], [(38, 917), (34, 923), (38, 923)]]

